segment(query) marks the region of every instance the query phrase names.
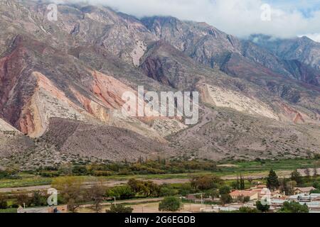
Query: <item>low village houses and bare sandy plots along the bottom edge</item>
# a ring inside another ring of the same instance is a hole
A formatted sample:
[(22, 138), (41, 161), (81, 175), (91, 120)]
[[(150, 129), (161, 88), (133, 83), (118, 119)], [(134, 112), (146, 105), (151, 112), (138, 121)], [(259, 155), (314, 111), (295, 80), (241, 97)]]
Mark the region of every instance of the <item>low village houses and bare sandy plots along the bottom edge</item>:
[[(258, 182), (259, 183), (259, 182)], [(313, 193), (314, 187), (294, 187), (292, 195), (286, 195), (279, 189), (270, 190), (266, 184), (257, 184), (250, 189), (237, 190), (233, 189), (229, 193), (230, 203), (223, 204), (221, 196), (213, 198), (205, 196), (205, 193), (188, 194), (181, 196), (179, 199), (183, 201), (181, 209), (176, 211), (179, 213), (223, 213), (223, 212), (242, 212), (245, 209), (257, 209), (257, 203), (267, 206), (265, 212), (275, 213), (284, 206), (284, 203), (292, 201), (300, 205), (307, 206), (309, 213), (320, 213), (320, 193)], [(140, 199), (132, 201), (118, 201), (118, 204), (127, 204), (132, 207), (133, 213), (154, 213), (158, 212), (159, 203), (164, 199)], [(116, 201), (102, 204), (110, 207), (116, 204)], [(133, 206), (131, 206), (132, 204)], [(80, 211), (87, 211), (90, 205), (82, 205)], [(36, 208), (23, 208), (19, 206), (17, 213), (68, 213), (67, 205), (60, 206), (43, 206)]]

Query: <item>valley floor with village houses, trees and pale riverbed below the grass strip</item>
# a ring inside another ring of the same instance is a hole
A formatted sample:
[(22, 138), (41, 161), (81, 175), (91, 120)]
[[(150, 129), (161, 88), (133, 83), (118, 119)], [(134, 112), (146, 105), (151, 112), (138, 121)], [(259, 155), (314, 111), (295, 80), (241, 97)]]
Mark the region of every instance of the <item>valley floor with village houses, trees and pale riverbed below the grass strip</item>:
[[(316, 159), (310, 161), (316, 162)], [(146, 162), (154, 163), (154, 162)], [(156, 163), (164, 163), (159, 162)], [(169, 162), (174, 165), (174, 162)], [(207, 162), (201, 162), (205, 166)], [(141, 165), (141, 164), (140, 164)], [(146, 165), (146, 164), (144, 164)], [(168, 165), (166, 163), (166, 165)], [(247, 163), (246, 163), (247, 165)], [(200, 165), (199, 165), (200, 166)], [(208, 165), (208, 167), (210, 167)], [(221, 167), (221, 168), (230, 168)], [(85, 170), (89, 170), (86, 167)], [(78, 169), (75, 169), (78, 171)], [(186, 174), (185, 178), (110, 179), (61, 175), (50, 184), (0, 189), (3, 212), (13, 213), (320, 213), (319, 169)], [(53, 172), (53, 171), (52, 171)], [(30, 176), (30, 175), (29, 175)], [(39, 176), (35, 176), (36, 179)], [(52, 192), (54, 194), (52, 194)]]

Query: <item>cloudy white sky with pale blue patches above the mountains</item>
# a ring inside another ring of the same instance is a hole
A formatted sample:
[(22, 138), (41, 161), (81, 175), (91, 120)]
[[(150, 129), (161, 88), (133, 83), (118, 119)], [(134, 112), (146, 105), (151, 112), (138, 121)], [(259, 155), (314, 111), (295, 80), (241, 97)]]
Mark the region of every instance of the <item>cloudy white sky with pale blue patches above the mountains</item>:
[[(307, 35), (320, 42), (319, 0), (87, 0), (87, 2), (111, 6), (117, 11), (139, 18), (175, 16), (182, 20), (204, 21), (221, 31), (239, 37), (252, 33), (264, 33), (282, 38)], [(265, 14), (269, 11), (265, 4), (270, 6), (270, 17)]]

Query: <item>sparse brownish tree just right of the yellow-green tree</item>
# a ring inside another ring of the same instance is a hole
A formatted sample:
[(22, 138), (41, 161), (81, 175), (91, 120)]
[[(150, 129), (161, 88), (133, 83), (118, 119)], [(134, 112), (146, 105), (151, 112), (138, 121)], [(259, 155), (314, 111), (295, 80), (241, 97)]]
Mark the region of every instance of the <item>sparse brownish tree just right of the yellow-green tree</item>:
[(95, 182), (90, 189), (87, 190), (86, 197), (90, 201), (93, 201), (93, 206), (91, 207), (95, 213), (100, 213), (102, 210), (101, 203), (105, 196), (105, 186), (102, 182)]

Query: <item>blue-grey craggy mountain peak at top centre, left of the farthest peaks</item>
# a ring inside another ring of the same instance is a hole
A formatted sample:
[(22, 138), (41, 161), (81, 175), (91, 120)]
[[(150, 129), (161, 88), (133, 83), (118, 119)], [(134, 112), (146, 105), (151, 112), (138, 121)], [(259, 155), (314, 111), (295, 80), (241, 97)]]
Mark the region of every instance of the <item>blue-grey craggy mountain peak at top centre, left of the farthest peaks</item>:
[(219, 67), (230, 52), (240, 52), (240, 40), (206, 23), (179, 21), (173, 17), (142, 18), (154, 35), (210, 67)]

